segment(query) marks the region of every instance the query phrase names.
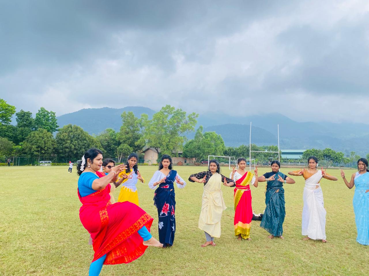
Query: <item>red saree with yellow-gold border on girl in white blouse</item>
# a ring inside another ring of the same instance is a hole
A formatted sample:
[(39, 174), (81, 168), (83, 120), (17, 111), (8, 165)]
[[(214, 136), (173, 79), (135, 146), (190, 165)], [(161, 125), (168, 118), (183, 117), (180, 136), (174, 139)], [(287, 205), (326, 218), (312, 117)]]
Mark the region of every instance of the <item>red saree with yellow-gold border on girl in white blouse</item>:
[(250, 237), (252, 220), (250, 183), (254, 174), (249, 171), (236, 181), (234, 189), (234, 234), (246, 239)]

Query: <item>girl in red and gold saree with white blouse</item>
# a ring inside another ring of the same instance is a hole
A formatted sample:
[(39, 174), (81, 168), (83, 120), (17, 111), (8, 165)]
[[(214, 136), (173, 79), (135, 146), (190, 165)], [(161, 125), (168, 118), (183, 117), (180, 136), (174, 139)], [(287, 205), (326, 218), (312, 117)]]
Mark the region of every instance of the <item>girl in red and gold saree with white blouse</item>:
[(238, 170), (232, 170), (230, 178), (236, 183), (234, 189), (234, 234), (238, 240), (251, 240), (250, 229), (252, 220), (251, 190), (250, 184), (258, 187), (258, 168), (255, 175), (246, 171), (246, 159), (237, 159)]

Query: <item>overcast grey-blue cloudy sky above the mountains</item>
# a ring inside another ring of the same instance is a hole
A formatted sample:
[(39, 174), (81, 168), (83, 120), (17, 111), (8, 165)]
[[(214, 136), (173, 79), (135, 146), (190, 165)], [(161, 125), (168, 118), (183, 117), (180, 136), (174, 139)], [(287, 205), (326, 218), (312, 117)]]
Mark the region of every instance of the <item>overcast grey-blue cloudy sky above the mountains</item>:
[(0, 3), (0, 97), (17, 111), (368, 122), (367, 0)]

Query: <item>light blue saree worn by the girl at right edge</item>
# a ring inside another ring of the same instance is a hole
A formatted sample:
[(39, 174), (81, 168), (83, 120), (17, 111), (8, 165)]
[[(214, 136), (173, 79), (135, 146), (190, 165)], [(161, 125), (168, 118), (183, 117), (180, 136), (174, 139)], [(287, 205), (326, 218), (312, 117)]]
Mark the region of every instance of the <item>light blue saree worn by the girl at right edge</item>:
[(354, 205), (356, 229), (359, 244), (369, 245), (369, 172), (355, 175), (355, 194), (352, 204)]

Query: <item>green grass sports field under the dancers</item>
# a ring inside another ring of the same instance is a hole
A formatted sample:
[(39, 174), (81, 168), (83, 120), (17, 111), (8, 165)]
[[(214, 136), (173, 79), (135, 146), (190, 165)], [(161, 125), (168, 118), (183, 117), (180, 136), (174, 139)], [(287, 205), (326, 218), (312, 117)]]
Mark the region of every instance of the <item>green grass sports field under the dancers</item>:
[[(146, 183), (156, 167), (141, 167)], [(175, 167), (182, 178), (205, 167)], [(291, 169), (283, 169), (287, 173)], [(89, 234), (79, 220), (76, 169), (68, 167), (0, 167), (0, 275), (87, 275), (93, 250)], [(260, 168), (259, 175), (270, 171)], [(221, 171), (229, 175), (228, 168)], [(238, 241), (233, 231), (233, 188), (223, 186), (227, 210), (222, 217), (222, 236), (216, 247), (201, 248), (203, 231), (197, 228), (203, 185), (190, 183), (176, 189), (176, 237), (172, 248), (148, 248), (130, 264), (103, 266), (101, 275), (368, 275), (369, 247), (356, 243), (352, 197), (339, 177), (323, 180), (327, 210), (328, 243), (303, 241), (301, 211), (304, 181), (286, 184), (284, 240), (270, 240), (268, 233), (253, 222), (251, 241)], [(346, 176), (354, 170), (346, 170)], [(140, 206), (152, 217), (152, 234), (158, 237), (154, 191), (137, 184)], [(252, 206), (265, 208), (265, 183), (252, 187)], [(115, 191), (118, 198), (120, 188)]]

